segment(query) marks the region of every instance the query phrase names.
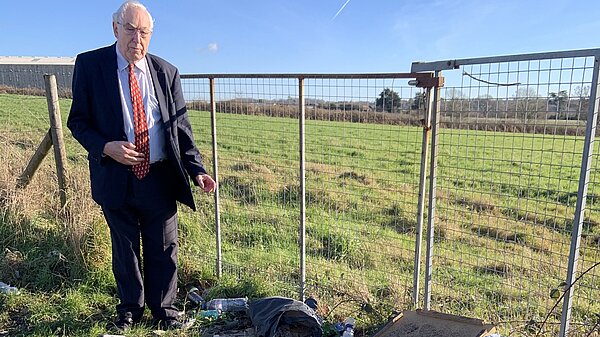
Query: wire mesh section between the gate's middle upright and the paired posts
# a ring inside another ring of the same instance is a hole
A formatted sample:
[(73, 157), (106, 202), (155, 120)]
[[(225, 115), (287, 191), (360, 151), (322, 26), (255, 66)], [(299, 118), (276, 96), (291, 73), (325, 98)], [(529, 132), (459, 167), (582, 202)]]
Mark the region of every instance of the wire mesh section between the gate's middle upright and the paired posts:
[(381, 323), (411, 306), (423, 92), (394, 78), (305, 85), (307, 293), (338, 319)]

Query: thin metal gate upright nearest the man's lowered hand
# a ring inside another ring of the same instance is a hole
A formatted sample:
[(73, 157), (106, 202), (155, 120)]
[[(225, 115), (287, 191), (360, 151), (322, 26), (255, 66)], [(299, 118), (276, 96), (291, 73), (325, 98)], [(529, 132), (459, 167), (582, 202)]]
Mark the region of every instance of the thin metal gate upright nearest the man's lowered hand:
[(215, 79), (211, 77), (210, 83), (210, 124), (212, 134), (212, 150), (213, 150), (213, 177), (217, 183), (215, 189), (215, 232), (216, 232), (216, 270), (217, 277), (221, 277), (223, 258), (221, 256), (221, 210), (219, 207), (219, 161), (217, 159), (217, 101), (215, 99)]

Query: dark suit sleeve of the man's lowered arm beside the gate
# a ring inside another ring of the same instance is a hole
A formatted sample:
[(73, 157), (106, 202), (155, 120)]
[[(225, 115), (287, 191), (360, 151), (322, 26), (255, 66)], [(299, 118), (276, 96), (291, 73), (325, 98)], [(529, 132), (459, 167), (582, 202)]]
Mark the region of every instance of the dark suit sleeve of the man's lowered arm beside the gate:
[(183, 97), (183, 90), (181, 89), (181, 79), (179, 78), (178, 70), (175, 70), (175, 75), (171, 83), (171, 94), (173, 95), (173, 101), (177, 111), (177, 138), (179, 143), (179, 153), (181, 154), (181, 161), (183, 167), (192, 178), (193, 183), (198, 185), (195, 177), (199, 174), (207, 174), (207, 172), (202, 164), (202, 156), (200, 151), (194, 142), (194, 135), (188, 119), (187, 108), (185, 106), (185, 99)]

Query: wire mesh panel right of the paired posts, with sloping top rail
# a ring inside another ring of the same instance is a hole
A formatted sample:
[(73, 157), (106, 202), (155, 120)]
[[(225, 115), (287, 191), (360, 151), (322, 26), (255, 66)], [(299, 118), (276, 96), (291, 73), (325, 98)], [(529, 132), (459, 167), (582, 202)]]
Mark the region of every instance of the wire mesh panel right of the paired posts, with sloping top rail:
[[(431, 309), (485, 318), (510, 335), (556, 335), (593, 72), (591, 56), (444, 71)], [(598, 262), (597, 165), (579, 273)], [(596, 275), (575, 285), (574, 329), (600, 310)]]

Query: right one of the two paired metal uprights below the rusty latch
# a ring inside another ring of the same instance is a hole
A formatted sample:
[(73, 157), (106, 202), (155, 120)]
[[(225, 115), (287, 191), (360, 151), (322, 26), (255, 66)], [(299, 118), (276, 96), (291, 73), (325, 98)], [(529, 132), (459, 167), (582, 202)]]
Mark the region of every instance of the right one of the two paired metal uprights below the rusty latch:
[[(435, 77), (441, 76), (441, 71), (435, 71)], [(435, 219), (435, 193), (436, 193), (436, 174), (438, 159), (438, 132), (440, 125), (440, 87), (434, 87), (433, 111), (432, 111), (432, 133), (431, 133), (431, 158), (429, 165), (429, 211), (427, 213), (427, 256), (425, 263), (425, 294), (424, 308), (431, 309), (431, 275), (433, 266), (433, 239), (434, 239), (434, 219)]]

